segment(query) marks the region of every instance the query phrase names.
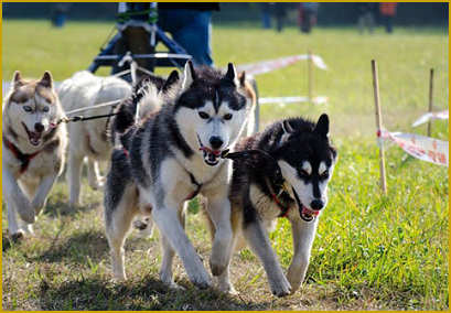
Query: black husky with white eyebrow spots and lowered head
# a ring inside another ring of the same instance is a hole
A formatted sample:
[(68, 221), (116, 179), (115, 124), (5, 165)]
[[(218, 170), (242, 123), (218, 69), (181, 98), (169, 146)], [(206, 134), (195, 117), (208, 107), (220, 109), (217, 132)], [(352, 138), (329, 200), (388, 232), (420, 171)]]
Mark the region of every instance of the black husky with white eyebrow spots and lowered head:
[[(301, 118), (288, 119), (236, 145), (236, 151), (261, 150), (269, 156), (256, 154), (234, 160), (229, 193), (233, 250), (245, 248), (247, 241), (266, 270), (271, 292), (278, 296), (294, 293), (309, 266), (319, 213), (326, 205), (326, 187), (337, 158), (327, 133), (326, 115), (316, 125)], [(275, 162), (280, 166), (283, 184), (275, 183)], [(276, 219), (282, 216), (291, 223), (294, 246), (288, 279), (268, 238)], [(210, 226), (215, 234), (214, 223)], [(228, 268), (219, 276), (218, 288), (235, 292)]]

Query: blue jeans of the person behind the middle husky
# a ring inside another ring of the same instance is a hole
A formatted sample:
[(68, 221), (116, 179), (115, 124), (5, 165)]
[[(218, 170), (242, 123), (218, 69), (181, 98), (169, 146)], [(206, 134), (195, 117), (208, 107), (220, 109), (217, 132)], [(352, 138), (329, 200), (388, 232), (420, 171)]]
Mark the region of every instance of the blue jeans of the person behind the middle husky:
[(160, 9), (158, 24), (186, 50), (194, 64), (213, 66), (211, 11)]

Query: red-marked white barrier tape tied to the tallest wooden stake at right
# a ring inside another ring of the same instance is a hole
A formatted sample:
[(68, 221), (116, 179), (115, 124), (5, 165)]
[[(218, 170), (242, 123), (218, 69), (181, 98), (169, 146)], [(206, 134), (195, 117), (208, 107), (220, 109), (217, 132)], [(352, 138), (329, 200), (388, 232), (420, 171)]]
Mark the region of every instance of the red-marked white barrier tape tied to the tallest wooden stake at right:
[(386, 139), (395, 142), (404, 151), (417, 159), (449, 166), (448, 141), (414, 133), (389, 132), (386, 129), (378, 131), (377, 137), (379, 140)]

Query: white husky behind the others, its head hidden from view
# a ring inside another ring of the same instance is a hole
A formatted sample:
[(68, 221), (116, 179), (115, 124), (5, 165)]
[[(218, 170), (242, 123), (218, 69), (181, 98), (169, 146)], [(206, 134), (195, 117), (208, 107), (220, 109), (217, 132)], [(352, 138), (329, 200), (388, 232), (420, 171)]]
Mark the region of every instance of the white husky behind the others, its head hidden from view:
[[(87, 71), (75, 73), (60, 88), (60, 101), (65, 111), (93, 107), (121, 100), (131, 95), (131, 86), (117, 77), (99, 77)], [(85, 117), (108, 115), (112, 107), (96, 108), (80, 112)], [(109, 118), (77, 121), (68, 125), (69, 148), (67, 181), (69, 203), (80, 204), (80, 180), (83, 160), (88, 158), (88, 183), (97, 190), (103, 186), (98, 162), (107, 161), (112, 144), (108, 138)]]

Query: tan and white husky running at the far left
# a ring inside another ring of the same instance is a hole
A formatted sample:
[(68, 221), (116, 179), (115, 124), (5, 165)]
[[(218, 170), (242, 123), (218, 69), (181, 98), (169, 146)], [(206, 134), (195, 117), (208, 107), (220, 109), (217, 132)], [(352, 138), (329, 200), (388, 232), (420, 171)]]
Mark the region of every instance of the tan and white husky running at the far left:
[[(66, 127), (52, 75), (24, 80), (15, 72), (3, 99), (3, 199), (13, 237), (31, 233), (49, 192), (64, 168)], [(17, 213), (21, 217), (18, 223)]]

